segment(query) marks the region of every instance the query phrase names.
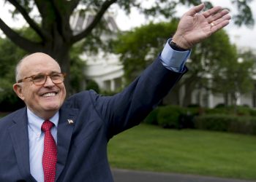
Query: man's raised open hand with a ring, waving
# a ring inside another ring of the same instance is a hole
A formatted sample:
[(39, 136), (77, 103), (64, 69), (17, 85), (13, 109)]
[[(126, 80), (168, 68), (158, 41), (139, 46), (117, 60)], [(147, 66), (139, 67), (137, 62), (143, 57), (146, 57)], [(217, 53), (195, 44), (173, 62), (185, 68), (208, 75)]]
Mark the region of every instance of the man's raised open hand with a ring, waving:
[(192, 7), (181, 17), (173, 36), (173, 41), (178, 47), (189, 50), (230, 22), (231, 17), (227, 9), (213, 7), (206, 12), (200, 12), (203, 8), (204, 4)]

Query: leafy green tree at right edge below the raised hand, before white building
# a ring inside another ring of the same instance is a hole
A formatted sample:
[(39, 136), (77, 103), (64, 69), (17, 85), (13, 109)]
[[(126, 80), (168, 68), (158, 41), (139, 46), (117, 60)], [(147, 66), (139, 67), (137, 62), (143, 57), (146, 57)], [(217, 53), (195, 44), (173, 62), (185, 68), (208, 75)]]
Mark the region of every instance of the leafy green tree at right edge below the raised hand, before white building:
[[(225, 50), (229, 51), (228, 47), (225, 47)], [(226, 57), (227, 55), (223, 56)], [(238, 54), (235, 50), (229, 56), (229, 59), (223, 60), (212, 71), (214, 76), (211, 90), (215, 93), (231, 95), (230, 103), (236, 104), (238, 94), (244, 95), (254, 89), (253, 75), (255, 74), (256, 58), (252, 52)]]

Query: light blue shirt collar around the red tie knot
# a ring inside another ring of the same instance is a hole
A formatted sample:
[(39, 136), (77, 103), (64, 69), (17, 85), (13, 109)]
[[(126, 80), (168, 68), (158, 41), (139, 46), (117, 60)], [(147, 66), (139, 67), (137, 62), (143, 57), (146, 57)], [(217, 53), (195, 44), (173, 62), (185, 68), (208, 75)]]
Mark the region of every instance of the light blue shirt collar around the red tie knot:
[[(42, 123), (45, 122), (45, 119), (40, 118), (36, 114), (34, 114), (29, 108), (27, 108), (27, 114), (28, 114), (28, 122), (29, 122), (29, 127), (31, 130), (33, 130), (37, 135), (41, 133), (41, 126)], [(59, 122), (59, 111), (54, 114), (53, 117), (51, 117), (50, 122), (53, 122), (55, 124), (55, 127), (58, 127), (58, 122)]]

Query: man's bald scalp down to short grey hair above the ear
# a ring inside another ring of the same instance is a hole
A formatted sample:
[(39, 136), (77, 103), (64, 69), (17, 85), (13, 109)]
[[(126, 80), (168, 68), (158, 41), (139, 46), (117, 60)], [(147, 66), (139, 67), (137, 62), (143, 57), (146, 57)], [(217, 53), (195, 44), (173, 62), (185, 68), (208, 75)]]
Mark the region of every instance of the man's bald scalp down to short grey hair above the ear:
[(53, 58), (51, 58), (50, 55), (47, 55), (42, 52), (36, 52), (31, 55), (26, 55), (18, 62), (15, 68), (16, 82), (18, 82), (19, 79), (22, 79), (25, 76), (26, 72), (33, 69), (34, 66), (39, 64), (42, 66), (47, 66), (47, 64), (49, 63), (58, 66), (59, 72), (61, 72), (59, 63)]

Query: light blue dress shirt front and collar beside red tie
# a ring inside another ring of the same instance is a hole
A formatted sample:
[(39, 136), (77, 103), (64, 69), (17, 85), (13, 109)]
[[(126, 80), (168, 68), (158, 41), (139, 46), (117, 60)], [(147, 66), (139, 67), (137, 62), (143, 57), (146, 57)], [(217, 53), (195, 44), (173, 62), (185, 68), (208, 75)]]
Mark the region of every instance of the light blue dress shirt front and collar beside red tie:
[[(28, 129), (30, 173), (38, 182), (44, 182), (44, 172), (42, 169), (42, 152), (44, 151), (45, 133), (41, 131), (41, 126), (42, 123), (45, 122), (45, 120), (35, 115), (32, 111), (29, 110), (29, 108), (27, 109), (27, 114), (29, 119)], [(57, 112), (49, 120), (50, 122), (53, 122), (55, 124), (50, 132), (57, 143), (59, 112)]]

